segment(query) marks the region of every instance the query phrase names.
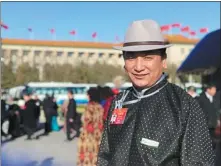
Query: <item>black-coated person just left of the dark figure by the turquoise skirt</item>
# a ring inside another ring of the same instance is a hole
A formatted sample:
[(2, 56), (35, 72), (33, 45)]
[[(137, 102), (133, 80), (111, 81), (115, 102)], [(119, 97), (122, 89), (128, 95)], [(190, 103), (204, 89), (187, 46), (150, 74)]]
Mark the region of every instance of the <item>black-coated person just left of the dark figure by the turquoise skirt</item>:
[(27, 140), (31, 140), (31, 136), (37, 128), (38, 107), (28, 92), (23, 92), (23, 98), (25, 100), (25, 106), (22, 110), (22, 120), (24, 130), (27, 134)]

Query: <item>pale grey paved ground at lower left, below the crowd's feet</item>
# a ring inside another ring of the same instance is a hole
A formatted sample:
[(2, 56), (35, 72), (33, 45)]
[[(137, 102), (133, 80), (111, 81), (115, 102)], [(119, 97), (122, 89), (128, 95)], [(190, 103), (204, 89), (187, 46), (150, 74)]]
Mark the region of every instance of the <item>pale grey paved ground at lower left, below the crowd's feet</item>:
[[(40, 135), (44, 130), (38, 131)], [(26, 136), (5, 142), (1, 146), (2, 166), (75, 166), (77, 139), (65, 141), (64, 131), (41, 136), (39, 140), (25, 140)]]

